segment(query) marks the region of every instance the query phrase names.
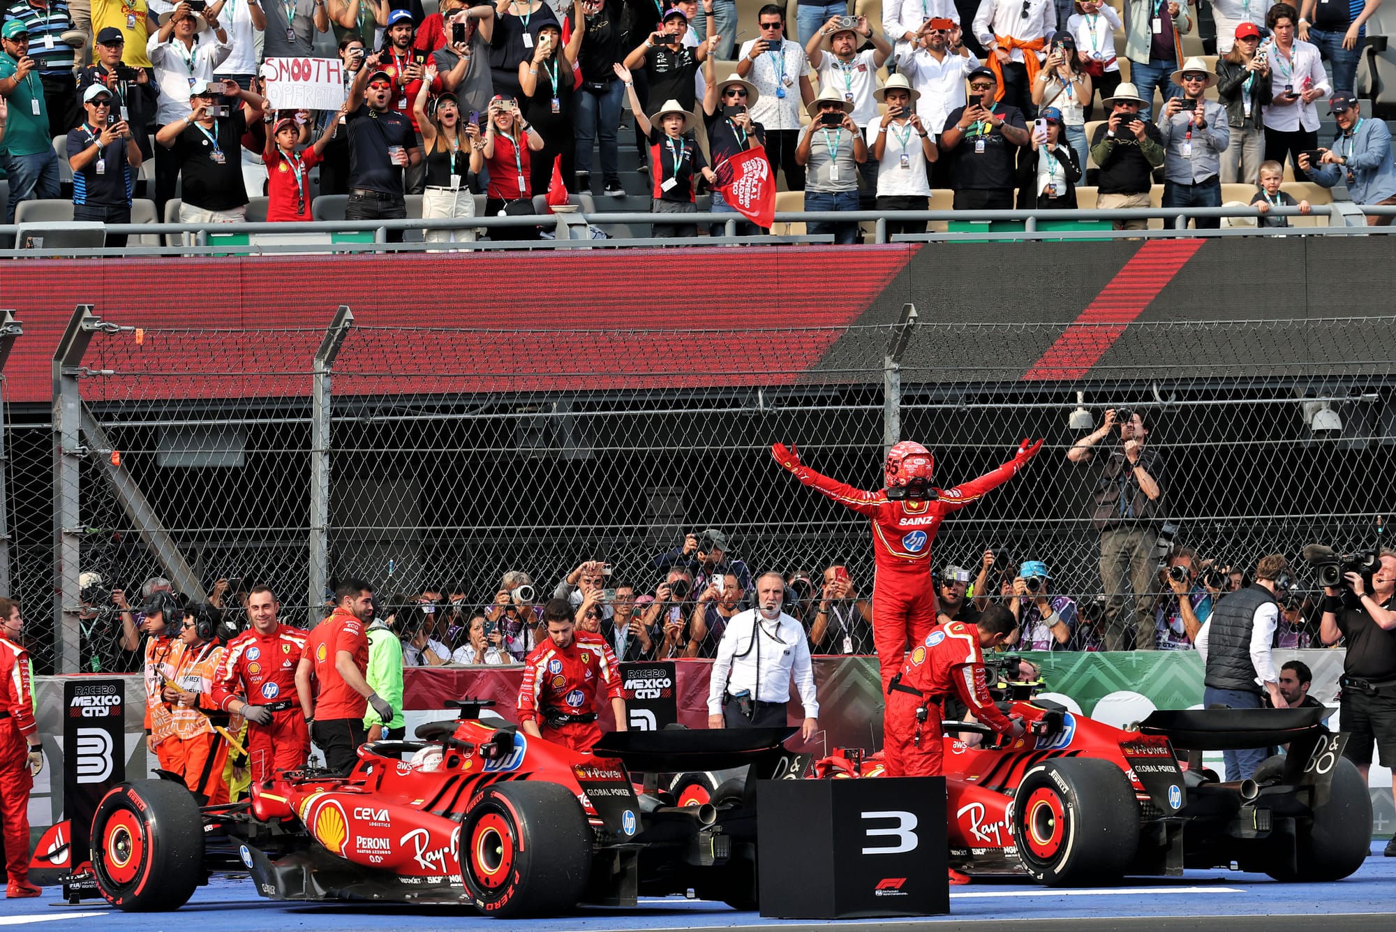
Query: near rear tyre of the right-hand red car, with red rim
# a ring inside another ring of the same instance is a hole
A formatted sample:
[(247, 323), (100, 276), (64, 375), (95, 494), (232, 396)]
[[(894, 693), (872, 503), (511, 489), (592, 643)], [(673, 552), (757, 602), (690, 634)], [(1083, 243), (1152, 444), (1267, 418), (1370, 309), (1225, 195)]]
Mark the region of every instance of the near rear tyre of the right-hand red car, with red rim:
[(1108, 760), (1036, 765), (1023, 774), (1009, 822), (1023, 868), (1046, 886), (1117, 880), (1139, 847), (1139, 804)]

